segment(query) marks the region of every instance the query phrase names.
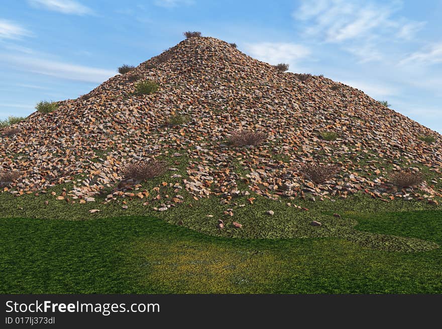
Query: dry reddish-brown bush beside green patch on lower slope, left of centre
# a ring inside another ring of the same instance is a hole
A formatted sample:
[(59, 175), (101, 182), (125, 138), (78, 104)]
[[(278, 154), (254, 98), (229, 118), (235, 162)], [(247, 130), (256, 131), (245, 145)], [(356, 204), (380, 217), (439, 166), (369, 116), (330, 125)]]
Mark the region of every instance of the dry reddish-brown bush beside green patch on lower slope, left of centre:
[(167, 171), (167, 162), (155, 159), (140, 160), (127, 164), (122, 169), (124, 180), (146, 181), (163, 175)]

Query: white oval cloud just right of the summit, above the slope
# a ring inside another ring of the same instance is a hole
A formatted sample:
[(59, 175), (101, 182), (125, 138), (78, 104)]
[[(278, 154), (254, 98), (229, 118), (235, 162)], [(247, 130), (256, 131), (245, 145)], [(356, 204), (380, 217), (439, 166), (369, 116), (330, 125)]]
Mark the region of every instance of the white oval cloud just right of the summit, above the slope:
[(254, 58), (270, 64), (292, 64), (310, 54), (310, 50), (293, 43), (262, 42), (246, 44), (246, 51)]

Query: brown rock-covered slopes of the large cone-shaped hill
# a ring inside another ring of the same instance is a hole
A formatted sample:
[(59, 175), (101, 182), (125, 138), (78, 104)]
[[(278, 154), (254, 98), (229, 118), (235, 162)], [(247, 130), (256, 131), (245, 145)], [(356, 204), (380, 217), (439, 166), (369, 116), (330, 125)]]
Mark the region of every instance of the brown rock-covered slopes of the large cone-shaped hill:
[[(145, 80), (158, 90), (137, 93)], [(391, 182), (406, 170), (440, 173), (438, 133), (360, 90), (281, 72), (214, 38), (186, 39), (59, 105), (31, 114), (14, 125), (18, 133), (0, 137), (0, 169), (20, 173), (4, 192), (67, 184), (60, 200), (137, 197), (128, 191), (140, 182), (127, 180), (122, 169), (159, 159), (167, 172), (157, 189), (173, 187), (194, 199), (229, 203), (249, 193), (342, 199), (361, 192), (386, 201), (440, 196), (434, 179), (403, 189)], [(259, 132), (261, 143), (232, 143), (242, 132)], [(175, 173), (179, 158), (186, 159), (184, 175)], [(312, 172), (328, 170), (327, 164), (335, 166), (334, 175), (315, 181)], [(162, 208), (179, 203), (172, 197)]]

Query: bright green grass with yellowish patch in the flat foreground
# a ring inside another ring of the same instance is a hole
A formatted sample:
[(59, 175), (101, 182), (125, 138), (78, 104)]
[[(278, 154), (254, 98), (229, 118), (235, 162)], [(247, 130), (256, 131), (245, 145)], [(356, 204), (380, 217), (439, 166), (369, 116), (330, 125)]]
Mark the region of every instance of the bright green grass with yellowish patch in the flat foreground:
[[(438, 245), (441, 217), (437, 210), (343, 215), (357, 218), (357, 230)], [(232, 239), (137, 216), (0, 219), (0, 240), (0, 293), (442, 292), (440, 248), (383, 251), (336, 237)]]

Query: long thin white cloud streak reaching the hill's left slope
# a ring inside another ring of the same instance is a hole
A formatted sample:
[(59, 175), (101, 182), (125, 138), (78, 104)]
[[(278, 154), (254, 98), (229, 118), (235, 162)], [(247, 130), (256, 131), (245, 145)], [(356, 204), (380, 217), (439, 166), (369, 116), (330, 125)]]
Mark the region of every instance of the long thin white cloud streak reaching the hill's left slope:
[(2, 53), (0, 61), (21, 71), (84, 82), (101, 83), (117, 74), (112, 70)]

